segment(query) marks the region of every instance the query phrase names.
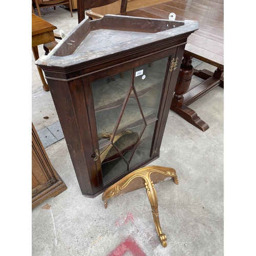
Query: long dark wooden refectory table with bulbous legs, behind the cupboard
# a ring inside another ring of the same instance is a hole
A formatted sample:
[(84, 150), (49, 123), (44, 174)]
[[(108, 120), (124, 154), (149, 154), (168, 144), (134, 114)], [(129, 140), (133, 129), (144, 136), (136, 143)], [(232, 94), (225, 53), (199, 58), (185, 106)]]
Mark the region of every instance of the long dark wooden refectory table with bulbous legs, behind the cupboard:
[[(206, 131), (208, 124), (188, 105), (215, 87), (224, 87), (224, 0), (173, 0), (121, 14), (168, 19), (172, 12), (176, 14), (176, 20), (197, 20), (199, 30), (188, 37), (170, 109), (200, 130)], [(217, 70), (214, 73), (194, 70), (191, 65), (193, 57), (217, 67)], [(193, 74), (204, 81), (189, 90)]]

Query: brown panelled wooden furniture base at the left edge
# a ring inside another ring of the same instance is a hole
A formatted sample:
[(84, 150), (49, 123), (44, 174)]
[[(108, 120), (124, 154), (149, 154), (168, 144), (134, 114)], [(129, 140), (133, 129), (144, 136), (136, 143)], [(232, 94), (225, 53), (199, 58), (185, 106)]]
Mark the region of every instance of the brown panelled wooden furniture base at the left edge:
[(32, 123), (32, 209), (67, 189), (53, 168)]

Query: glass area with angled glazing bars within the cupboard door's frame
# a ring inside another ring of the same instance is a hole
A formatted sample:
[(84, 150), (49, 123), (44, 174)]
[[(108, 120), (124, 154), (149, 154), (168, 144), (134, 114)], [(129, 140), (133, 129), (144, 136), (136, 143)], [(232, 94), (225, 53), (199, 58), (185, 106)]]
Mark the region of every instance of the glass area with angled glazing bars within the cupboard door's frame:
[(153, 158), (169, 63), (167, 56), (90, 83), (103, 186)]

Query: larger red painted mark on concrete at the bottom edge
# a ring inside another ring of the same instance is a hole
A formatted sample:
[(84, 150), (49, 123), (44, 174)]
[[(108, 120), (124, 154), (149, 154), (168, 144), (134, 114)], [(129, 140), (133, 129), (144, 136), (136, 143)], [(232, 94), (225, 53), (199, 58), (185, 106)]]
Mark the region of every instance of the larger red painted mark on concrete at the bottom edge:
[(130, 251), (133, 256), (146, 256), (138, 244), (131, 238), (127, 238), (124, 242), (119, 244), (108, 256), (122, 256), (127, 251)]

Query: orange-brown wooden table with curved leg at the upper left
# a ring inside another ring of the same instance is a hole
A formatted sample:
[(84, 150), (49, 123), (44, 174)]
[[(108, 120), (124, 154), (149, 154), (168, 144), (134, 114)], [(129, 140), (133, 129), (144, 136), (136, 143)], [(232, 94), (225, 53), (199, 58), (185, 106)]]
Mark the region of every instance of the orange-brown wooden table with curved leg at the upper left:
[[(44, 45), (55, 40), (53, 33), (54, 29), (57, 29), (57, 27), (32, 13), (32, 51), (35, 60), (39, 58), (37, 46)], [(39, 67), (37, 67), (37, 70), (42, 81), (42, 87), (45, 91), (49, 91), (49, 87), (46, 83), (42, 70)]]

